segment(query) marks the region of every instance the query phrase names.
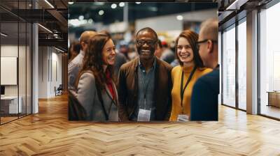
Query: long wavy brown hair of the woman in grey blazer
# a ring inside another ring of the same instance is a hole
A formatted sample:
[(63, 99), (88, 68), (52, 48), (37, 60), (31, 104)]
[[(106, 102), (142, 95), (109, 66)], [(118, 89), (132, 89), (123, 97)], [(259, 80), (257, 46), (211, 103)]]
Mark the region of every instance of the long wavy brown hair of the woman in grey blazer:
[[(79, 78), (83, 72), (90, 70), (97, 81), (99, 88), (104, 89), (106, 84), (106, 73), (103, 71), (104, 61), (102, 59), (102, 50), (106, 45), (106, 42), (110, 40), (109, 36), (105, 34), (97, 34), (96, 36), (90, 38), (90, 42), (87, 47), (87, 52), (85, 52), (85, 57), (83, 58), (83, 67), (80, 70)], [(108, 65), (107, 70), (109, 70), (110, 77), (113, 75), (113, 66)], [(77, 79), (78, 81), (78, 79)], [(76, 81), (76, 86), (78, 82)]]

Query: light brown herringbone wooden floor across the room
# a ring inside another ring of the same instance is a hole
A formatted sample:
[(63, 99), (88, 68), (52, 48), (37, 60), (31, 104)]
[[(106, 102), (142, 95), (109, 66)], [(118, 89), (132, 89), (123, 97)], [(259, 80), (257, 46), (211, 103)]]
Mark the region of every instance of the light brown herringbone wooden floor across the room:
[(224, 106), (218, 122), (150, 124), (69, 122), (65, 95), (39, 109), (0, 126), (0, 155), (280, 155), (279, 121)]

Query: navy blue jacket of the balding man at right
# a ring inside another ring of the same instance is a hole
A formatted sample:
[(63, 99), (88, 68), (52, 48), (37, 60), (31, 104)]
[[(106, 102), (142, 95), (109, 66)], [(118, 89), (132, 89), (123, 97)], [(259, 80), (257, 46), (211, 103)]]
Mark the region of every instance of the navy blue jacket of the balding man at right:
[(200, 77), (193, 87), (190, 120), (218, 120), (219, 70)]

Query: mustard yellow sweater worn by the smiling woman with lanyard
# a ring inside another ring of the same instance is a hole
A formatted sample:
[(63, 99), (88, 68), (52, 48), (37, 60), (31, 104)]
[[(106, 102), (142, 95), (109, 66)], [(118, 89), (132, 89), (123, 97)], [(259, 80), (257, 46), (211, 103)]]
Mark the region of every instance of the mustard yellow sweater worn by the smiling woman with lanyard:
[[(192, 72), (193, 67), (187, 68), (186, 72), (184, 72), (183, 76), (183, 87), (186, 85), (186, 81), (190, 76), (190, 72)], [(182, 75), (183, 67), (181, 65), (176, 66), (172, 70), (172, 112), (169, 118), (170, 121), (176, 121), (179, 114), (186, 114), (190, 116), (190, 99), (193, 92), (193, 86), (195, 85), (195, 81), (211, 72), (210, 68), (197, 68), (195, 73), (193, 74), (190, 83), (188, 84), (185, 92), (183, 94), (183, 108), (181, 107), (181, 75)], [(183, 113), (182, 113), (183, 111)]]

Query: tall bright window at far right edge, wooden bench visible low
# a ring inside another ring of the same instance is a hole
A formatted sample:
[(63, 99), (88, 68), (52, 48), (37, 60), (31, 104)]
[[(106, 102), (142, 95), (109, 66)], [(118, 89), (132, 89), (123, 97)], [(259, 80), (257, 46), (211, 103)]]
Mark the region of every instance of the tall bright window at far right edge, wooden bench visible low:
[(259, 114), (280, 119), (280, 3), (260, 10)]

